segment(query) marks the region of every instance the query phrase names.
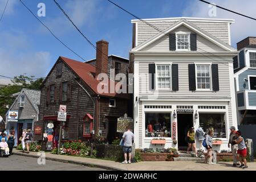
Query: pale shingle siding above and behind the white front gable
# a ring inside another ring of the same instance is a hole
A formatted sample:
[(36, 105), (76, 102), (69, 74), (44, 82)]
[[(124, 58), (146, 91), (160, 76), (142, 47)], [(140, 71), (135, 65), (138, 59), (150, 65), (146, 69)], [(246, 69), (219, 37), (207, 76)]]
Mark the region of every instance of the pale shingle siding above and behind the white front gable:
[[(190, 22), (190, 21), (189, 21)], [(150, 22), (153, 26), (156, 26), (160, 30), (165, 30), (172, 26), (176, 22)], [(194, 25), (198, 26), (202, 30), (216, 36), (216, 38), (224, 41), (225, 43), (229, 43), (229, 31), (228, 31), (228, 23), (217, 23), (217, 22), (193, 22)], [(158, 34), (159, 31), (155, 28), (149, 26), (146, 23), (139, 22), (137, 23), (137, 45), (143, 43), (144, 41), (148, 40), (152, 36)]]

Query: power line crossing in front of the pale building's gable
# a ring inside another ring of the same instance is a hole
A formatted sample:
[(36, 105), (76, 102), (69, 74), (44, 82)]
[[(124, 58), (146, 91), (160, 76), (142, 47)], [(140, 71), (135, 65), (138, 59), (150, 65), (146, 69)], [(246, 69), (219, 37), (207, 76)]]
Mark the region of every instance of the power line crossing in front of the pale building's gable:
[[(132, 15), (133, 17), (139, 19), (141, 22), (144, 22), (144, 23), (148, 24), (148, 26), (151, 26), (151, 27), (155, 28), (157, 31), (162, 32), (162, 34), (164, 34), (164, 35), (166, 35), (166, 36), (171, 36), (172, 38), (178, 40), (178, 41), (181, 42), (181, 43), (185, 43), (184, 41), (182, 41), (182, 40), (180, 40), (180, 39), (178, 39), (178, 38), (176, 38), (176, 37), (174, 37), (174, 36), (172, 36), (172, 35), (166, 34), (164, 31), (160, 30), (160, 29), (157, 28), (156, 26), (153, 26), (151, 23), (148, 23), (148, 22), (146, 22), (145, 20), (139, 18), (139, 16), (136, 16), (135, 14), (132, 14), (132, 13), (129, 12), (128, 10), (125, 10), (123, 7), (117, 5), (116, 3), (114, 3), (114, 2), (112, 2), (112, 1), (110, 1), (110, 0), (107, 0), (107, 1), (110, 2), (110, 3), (112, 3), (113, 5), (115, 5), (116, 7), (119, 7), (121, 10), (123, 10), (123, 11), (125, 11), (126, 13)], [(185, 44), (186, 44), (186, 43), (185, 43)], [(188, 47), (190, 47), (190, 46), (193, 47), (193, 45), (189, 45), (189, 44), (187, 44), (187, 45), (188, 45)], [(222, 59), (222, 60), (224, 60), (224, 61), (230, 62), (229, 60), (226, 60), (224, 57), (221, 57), (221, 56), (218, 56), (218, 55), (214, 55), (213, 53), (207, 52), (207, 51), (205, 51), (204, 49), (201, 49), (201, 48), (197, 48), (197, 49), (200, 49), (201, 51), (203, 51), (203, 52), (205, 52), (205, 53), (207, 53), (207, 54), (210, 54), (210, 55), (212, 55), (212, 56), (214, 56), (214, 57), (217, 57), (217, 58), (219, 58), (219, 59)], [(202, 52), (200, 52), (200, 51), (198, 51), (198, 53), (200, 53), (201, 55), (204, 55), (204, 53), (202, 53)], [(204, 55), (204, 56), (206, 56), (206, 55)], [(206, 56), (206, 57), (209, 57), (209, 56)], [(212, 59), (212, 57), (209, 57), (209, 58)], [(212, 60), (214, 60), (214, 59), (212, 59)], [(218, 61), (218, 60), (214, 60), (214, 61)], [(221, 64), (224, 64), (224, 65), (226, 65), (226, 66), (229, 66), (229, 65), (227, 65), (227, 64), (225, 64), (225, 63), (222, 63), (222, 62), (220, 62), (220, 61), (218, 61), (218, 63), (221, 63)], [(230, 67), (230, 66), (229, 66), (229, 67)]]

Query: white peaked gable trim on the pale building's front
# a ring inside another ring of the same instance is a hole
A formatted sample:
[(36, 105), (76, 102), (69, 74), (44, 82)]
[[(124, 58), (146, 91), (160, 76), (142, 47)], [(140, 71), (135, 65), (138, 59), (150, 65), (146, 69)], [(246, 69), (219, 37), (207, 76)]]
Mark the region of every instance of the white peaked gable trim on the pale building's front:
[(226, 51), (237, 51), (237, 49), (233, 48), (232, 46), (223, 42), (222, 40), (217, 39), (215, 36), (209, 34), (208, 32), (202, 30), (201, 28), (195, 26), (193, 23), (188, 22), (186, 19), (181, 19), (178, 22), (174, 23), (172, 26), (169, 26), (168, 28), (165, 28), (165, 30), (159, 32), (159, 34), (152, 36), (152, 38), (141, 43), (139, 46), (136, 46), (135, 48), (133, 48), (131, 50), (131, 52), (140, 51), (141, 49), (147, 47), (149, 44), (162, 38), (162, 36), (165, 36), (165, 34), (168, 34), (169, 32), (175, 30), (176, 28), (178, 28), (180, 26), (185, 26), (185, 27), (189, 28), (190, 30), (196, 32), (197, 34), (201, 35), (202, 37), (208, 39), (210, 42), (217, 44), (217, 46), (220, 46), (221, 48), (224, 48)]

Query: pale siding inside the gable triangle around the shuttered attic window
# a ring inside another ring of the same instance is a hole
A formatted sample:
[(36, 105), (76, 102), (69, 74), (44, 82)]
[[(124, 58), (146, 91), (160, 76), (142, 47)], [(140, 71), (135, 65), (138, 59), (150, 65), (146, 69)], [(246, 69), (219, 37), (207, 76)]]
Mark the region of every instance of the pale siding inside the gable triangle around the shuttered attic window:
[[(180, 26), (176, 28), (174, 31), (170, 32), (170, 34), (174, 34), (177, 31), (183, 31), (183, 32), (191, 32), (191, 34), (195, 34), (193, 31), (189, 30), (189, 28), (186, 28), (185, 26)], [(177, 39), (176, 39), (177, 41)], [(197, 35), (197, 48), (198, 51), (201, 51), (200, 49), (204, 51), (225, 51), (221, 47), (217, 46), (216, 44), (210, 42), (209, 40), (206, 40), (200, 35)], [(149, 46), (145, 47), (141, 51), (169, 51), (169, 37), (167, 35), (164, 35), (159, 40), (156, 40), (156, 42), (153, 42)]]

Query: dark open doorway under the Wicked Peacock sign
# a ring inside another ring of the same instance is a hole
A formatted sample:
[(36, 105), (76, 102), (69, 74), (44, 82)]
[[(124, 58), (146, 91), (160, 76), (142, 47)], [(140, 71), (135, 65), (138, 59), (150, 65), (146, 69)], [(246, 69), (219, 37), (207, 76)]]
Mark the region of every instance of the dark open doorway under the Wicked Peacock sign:
[(177, 114), (178, 128), (178, 149), (186, 150), (188, 143), (186, 142), (186, 134), (190, 127), (193, 126), (193, 114)]

